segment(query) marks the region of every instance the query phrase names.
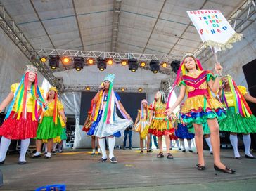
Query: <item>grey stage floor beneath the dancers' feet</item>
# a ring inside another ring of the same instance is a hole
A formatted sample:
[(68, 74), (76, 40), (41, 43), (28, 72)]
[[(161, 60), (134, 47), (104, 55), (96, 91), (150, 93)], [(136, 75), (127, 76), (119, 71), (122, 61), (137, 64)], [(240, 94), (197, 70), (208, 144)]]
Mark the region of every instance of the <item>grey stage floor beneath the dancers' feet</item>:
[[(218, 173), (213, 157), (205, 151), (205, 171), (196, 169), (197, 154), (172, 150), (174, 159), (157, 159), (138, 149), (115, 150), (117, 164), (98, 163), (101, 156), (88, 150), (68, 150), (51, 159), (31, 159), (18, 165), (18, 154), (7, 155), (1, 166), (1, 190), (34, 190), (43, 185), (65, 184), (67, 190), (253, 190), (256, 159), (233, 159), (233, 150), (222, 150), (222, 161), (236, 174)], [(241, 152), (243, 154), (243, 152)]]

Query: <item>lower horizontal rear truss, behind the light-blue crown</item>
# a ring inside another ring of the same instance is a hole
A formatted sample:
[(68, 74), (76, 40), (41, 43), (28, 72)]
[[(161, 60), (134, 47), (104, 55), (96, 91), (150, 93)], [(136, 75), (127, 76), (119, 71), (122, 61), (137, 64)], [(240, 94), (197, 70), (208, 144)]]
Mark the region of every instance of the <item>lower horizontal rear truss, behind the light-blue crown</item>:
[[(89, 87), (90, 89), (87, 90), (86, 88)], [(124, 88), (124, 91), (122, 91), (122, 88)], [(139, 93), (139, 88), (142, 88), (142, 91), (141, 93), (145, 93), (146, 91), (148, 91), (148, 88), (143, 88), (143, 86), (141, 87), (134, 87), (134, 88), (127, 88), (127, 87), (121, 87), (121, 86), (115, 86), (114, 89), (115, 91), (117, 92), (134, 92), (134, 93)], [(155, 91), (158, 91), (159, 88), (150, 88), (151, 91), (152, 90), (155, 90)], [(65, 92), (75, 92), (75, 91), (78, 91), (78, 92), (81, 92), (81, 91), (92, 91), (92, 92), (95, 92), (95, 91), (98, 91), (98, 86), (72, 86), (72, 85), (65, 85), (64, 86), (64, 89), (63, 89)]]

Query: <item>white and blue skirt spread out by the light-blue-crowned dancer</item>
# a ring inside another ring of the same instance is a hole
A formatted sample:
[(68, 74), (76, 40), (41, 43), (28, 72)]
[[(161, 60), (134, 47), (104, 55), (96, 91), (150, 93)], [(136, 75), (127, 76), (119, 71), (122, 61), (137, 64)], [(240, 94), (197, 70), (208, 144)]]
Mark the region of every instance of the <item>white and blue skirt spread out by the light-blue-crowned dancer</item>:
[[(104, 106), (105, 107), (105, 106)], [(132, 125), (132, 121), (128, 119), (121, 119), (117, 116), (117, 113), (114, 113), (114, 122), (113, 124), (107, 124), (103, 122), (104, 113), (103, 110), (98, 114), (96, 121), (91, 125), (90, 130), (87, 135), (96, 136), (99, 138), (107, 137), (107, 136), (115, 136), (120, 137), (124, 134), (124, 129), (128, 126)]]

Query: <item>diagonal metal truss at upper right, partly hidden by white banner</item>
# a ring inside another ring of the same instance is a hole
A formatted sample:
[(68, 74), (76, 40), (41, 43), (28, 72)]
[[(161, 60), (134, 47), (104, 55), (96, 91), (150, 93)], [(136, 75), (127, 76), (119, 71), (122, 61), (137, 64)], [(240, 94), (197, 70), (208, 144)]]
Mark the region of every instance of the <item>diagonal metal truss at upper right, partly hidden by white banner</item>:
[[(235, 13), (231, 15), (228, 19), (230, 25), (236, 32), (241, 33), (243, 30), (248, 28), (253, 22), (255, 22), (256, 17), (256, 4), (255, 0), (245, 1)], [(212, 51), (210, 48), (205, 48), (203, 45), (200, 46), (194, 54), (197, 56), (202, 63), (206, 62), (212, 57)]]

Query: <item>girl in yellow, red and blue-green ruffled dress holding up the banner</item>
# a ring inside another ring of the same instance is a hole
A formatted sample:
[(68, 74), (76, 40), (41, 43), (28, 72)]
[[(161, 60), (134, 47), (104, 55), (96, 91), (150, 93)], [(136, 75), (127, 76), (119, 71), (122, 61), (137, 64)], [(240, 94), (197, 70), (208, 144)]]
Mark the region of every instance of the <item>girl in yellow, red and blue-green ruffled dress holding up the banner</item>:
[[(219, 63), (215, 65), (217, 75), (214, 76), (212, 72), (203, 70), (200, 61), (193, 54), (186, 54), (182, 60), (173, 86), (174, 88), (179, 84), (181, 91), (174, 105), (166, 110), (166, 114), (172, 114), (172, 111), (181, 103), (187, 92), (188, 98), (181, 109), (181, 117), (187, 126), (193, 125), (195, 130), (198, 170), (205, 169), (202, 125), (207, 122), (211, 133), (215, 170), (234, 173), (233, 169), (229, 169), (220, 161), (218, 120), (223, 119), (226, 115), (222, 103), (213, 98), (210, 92), (217, 92), (219, 89), (219, 75), (221, 75), (222, 67)], [(182, 76), (179, 77), (179, 74)]]

